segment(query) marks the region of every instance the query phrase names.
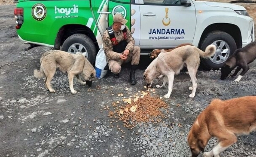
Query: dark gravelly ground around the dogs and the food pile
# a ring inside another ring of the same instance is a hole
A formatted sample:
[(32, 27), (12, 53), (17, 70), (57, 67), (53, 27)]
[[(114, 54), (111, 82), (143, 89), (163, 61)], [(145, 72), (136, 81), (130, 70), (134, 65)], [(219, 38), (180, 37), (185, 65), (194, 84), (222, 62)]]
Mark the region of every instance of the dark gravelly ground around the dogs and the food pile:
[[(72, 95), (67, 76), (56, 72), (49, 93), (43, 80), (33, 77), (39, 68), (40, 55), (48, 47), (24, 51), (28, 45), (17, 37), (13, 9), (0, 6), (0, 156), (189, 156), (186, 138), (195, 117), (213, 98), (229, 99), (256, 94), (256, 62), (239, 83), (220, 80), (220, 71), (198, 71), (195, 98), (189, 98), (191, 85), (186, 72), (175, 77), (173, 92), (162, 112), (167, 117), (158, 123), (138, 123), (134, 129), (123, 127), (122, 121), (110, 118), (113, 102), (146, 91), (142, 74), (136, 72), (138, 84), (128, 83), (128, 69), (120, 78), (97, 79), (93, 86), (82, 86), (74, 80), (79, 93)], [(142, 58), (141, 62), (146, 61)], [(161, 80), (154, 82), (154, 85)], [(153, 97), (167, 93), (156, 89)], [(122, 93), (123, 96), (118, 96)], [(117, 104), (118, 106), (119, 104)], [(207, 145), (213, 148), (216, 139)], [(256, 156), (256, 133), (240, 136), (238, 142), (220, 155), (223, 157)], [(202, 155), (202, 154), (201, 154)]]

